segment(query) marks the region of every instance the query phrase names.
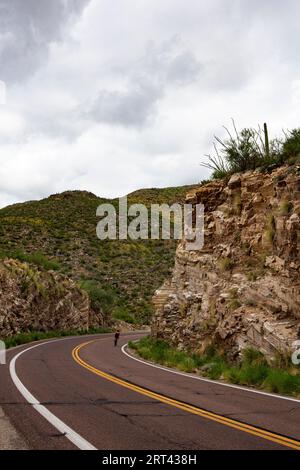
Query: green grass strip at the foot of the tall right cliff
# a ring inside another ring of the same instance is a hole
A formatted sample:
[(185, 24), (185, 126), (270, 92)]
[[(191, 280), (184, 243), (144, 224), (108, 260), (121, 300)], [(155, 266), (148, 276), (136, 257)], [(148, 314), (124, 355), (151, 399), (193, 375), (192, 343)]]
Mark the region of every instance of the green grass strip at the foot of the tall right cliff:
[(184, 372), (198, 372), (214, 380), (300, 397), (300, 367), (291, 363), (285, 363), (284, 367), (270, 365), (262, 353), (252, 348), (245, 349), (241, 361), (233, 363), (211, 346), (203, 354), (188, 354), (149, 336), (130, 342), (129, 347), (146, 360)]

